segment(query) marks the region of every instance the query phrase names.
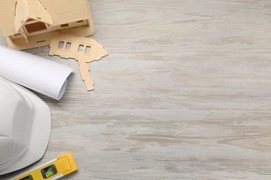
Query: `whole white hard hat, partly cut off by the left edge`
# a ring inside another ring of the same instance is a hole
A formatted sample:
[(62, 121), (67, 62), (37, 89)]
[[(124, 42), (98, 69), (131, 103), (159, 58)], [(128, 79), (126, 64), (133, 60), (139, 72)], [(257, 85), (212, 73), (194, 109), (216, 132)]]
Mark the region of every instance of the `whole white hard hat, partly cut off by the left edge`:
[(0, 175), (41, 159), (50, 133), (51, 113), (45, 102), (0, 77)]

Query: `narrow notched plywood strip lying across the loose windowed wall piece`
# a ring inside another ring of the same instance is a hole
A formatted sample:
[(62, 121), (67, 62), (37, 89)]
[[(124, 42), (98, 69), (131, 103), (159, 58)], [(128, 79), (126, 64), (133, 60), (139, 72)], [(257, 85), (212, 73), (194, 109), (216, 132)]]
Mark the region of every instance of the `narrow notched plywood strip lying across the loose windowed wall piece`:
[(93, 79), (90, 77), (90, 69), (88, 67), (88, 64), (85, 62), (83, 52), (76, 53), (76, 56), (79, 62), (79, 71), (81, 73), (81, 77), (85, 82), (85, 87), (88, 91), (91, 91), (94, 89), (94, 82)]

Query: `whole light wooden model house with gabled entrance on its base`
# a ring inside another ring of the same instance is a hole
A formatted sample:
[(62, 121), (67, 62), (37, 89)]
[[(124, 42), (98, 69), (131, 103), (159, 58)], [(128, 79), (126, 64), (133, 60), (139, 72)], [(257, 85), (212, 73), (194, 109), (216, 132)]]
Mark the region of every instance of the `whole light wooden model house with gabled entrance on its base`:
[(21, 50), (49, 44), (54, 31), (95, 33), (88, 0), (1, 0), (0, 28), (8, 46)]

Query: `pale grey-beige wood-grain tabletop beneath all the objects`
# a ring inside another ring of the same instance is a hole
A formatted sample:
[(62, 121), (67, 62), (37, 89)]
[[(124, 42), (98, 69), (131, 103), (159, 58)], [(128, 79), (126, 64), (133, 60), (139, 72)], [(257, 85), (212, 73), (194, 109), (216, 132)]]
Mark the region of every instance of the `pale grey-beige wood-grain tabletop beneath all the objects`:
[(64, 179), (271, 179), (271, 1), (90, 6), (109, 53), (89, 64), (95, 91), (74, 60), (26, 51), (74, 68), (62, 100), (37, 93), (53, 125), (35, 165), (70, 151)]

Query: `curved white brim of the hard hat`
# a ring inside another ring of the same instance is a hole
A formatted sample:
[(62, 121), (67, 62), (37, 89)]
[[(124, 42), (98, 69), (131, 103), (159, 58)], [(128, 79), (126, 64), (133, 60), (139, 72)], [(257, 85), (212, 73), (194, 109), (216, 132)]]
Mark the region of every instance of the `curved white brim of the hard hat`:
[(45, 151), (47, 150), (47, 145), (49, 143), (49, 138), (51, 134), (51, 111), (47, 104), (42, 101), (34, 93), (10, 82), (4, 78), (0, 77), (0, 80), (4, 80), (13, 86), (19, 93), (22, 93), (26, 97), (33, 107), (33, 124), (31, 127), (31, 136), (28, 141), (28, 146), (24, 154), (14, 163), (8, 165), (8, 167), (1, 169), (0, 175), (13, 172), (25, 168), (32, 163), (40, 160), (44, 156)]

